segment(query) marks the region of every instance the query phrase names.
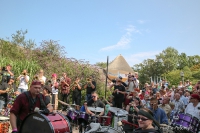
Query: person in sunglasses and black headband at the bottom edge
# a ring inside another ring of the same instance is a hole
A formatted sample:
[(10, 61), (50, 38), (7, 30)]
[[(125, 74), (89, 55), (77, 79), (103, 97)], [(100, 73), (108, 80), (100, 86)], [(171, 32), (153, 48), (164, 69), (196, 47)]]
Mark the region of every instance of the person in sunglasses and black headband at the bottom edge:
[(147, 108), (142, 108), (138, 112), (137, 121), (139, 128), (134, 133), (162, 133), (160, 125), (153, 118), (153, 113)]

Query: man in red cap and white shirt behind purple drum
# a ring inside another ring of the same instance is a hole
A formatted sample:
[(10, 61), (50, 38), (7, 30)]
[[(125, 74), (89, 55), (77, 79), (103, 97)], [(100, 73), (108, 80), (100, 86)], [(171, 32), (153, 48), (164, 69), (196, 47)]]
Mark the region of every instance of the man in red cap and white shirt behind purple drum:
[(190, 97), (190, 103), (185, 109), (185, 113), (191, 114), (200, 120), (200, 97), (198, 94), (192, 94)]

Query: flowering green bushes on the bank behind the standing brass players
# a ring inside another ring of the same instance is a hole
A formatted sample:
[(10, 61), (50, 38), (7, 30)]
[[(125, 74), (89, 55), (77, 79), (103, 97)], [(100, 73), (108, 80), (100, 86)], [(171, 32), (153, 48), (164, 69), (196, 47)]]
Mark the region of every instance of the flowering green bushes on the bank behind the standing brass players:
[[(79, 77), (83, 86), (86, 84), (86, 78), (93, 75), (100, 97), (104, 96), (104, 83), (100, 80), (96, 66), (86, 61), (65, 57), (64, 47), (60, 46), (58, 41), (43, 40), (36, 48), (34, 41), (26, 39), (26, 34), (27, 30), (19, 30), (16, 34), (12, 34), (11, 40), (0, 39), (0, 67), (11, 64), (15, 77), (27, 69), (30, 80), (38, 74), (39, 69), (44, 69), (47, 79), (50, 79), (53, 73), (61, 77), (62, 73), (66, 72), (72, 83)], [(82, 100), (85, 99), (85, 93), (83, 90)]]

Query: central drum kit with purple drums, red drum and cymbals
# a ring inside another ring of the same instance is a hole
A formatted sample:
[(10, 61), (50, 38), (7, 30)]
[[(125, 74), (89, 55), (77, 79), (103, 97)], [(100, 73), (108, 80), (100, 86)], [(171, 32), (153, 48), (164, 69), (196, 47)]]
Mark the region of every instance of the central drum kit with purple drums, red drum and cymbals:
[(103, 108), (88, 107), (88, 109), (95, 114), (94, 116), (91, 116), (85, 112), (77, 111), (75, 109), (76, 106), (78, 105), (68, 104), (68, 108), (65, 114), (67, 114), (66, 117), (68, 118), (71, 126), (78, 126), (79, 132), (87, 132), (91, 123), (98, 123), (101, 125), (101, 128), (98, 129), (98, 132), (105, 132), (104, 130), (107, 129), (108, 132), (122, 132), (121, 129), (118, 128), (117, 122), (121, 120), (127, 120), (128, 112), (120, 108), (110, 107), (109, 111), (112, 115), (99, 116), (98, 114), (104, 111)]

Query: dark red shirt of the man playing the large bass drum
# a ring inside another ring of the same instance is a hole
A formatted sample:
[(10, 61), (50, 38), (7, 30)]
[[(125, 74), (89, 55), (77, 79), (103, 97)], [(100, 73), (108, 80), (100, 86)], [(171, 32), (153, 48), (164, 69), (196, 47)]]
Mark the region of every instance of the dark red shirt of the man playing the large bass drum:
[[(30, 92), (28, 93), (28, 95), (30, 96)], [(43, 96), (43, 100), (44, 100), (44, 96)], [(40, 108), (39, 95), (36, 97), (36, 102), (35, 102), (35, 105), (33, 106), (33, 111), (34, 111), (35, 107)], [(26, 94), (22, 93), (19, 96), (17, 96), (10, 112), (14, 113), (15, 116), (19, 116), (19, 118), (21, 120), (23, 120), (29, 113), (33, 112), (33, 111), (31, 112), (29, 108), (30, 108), (29, 100), (27, 99)]]

